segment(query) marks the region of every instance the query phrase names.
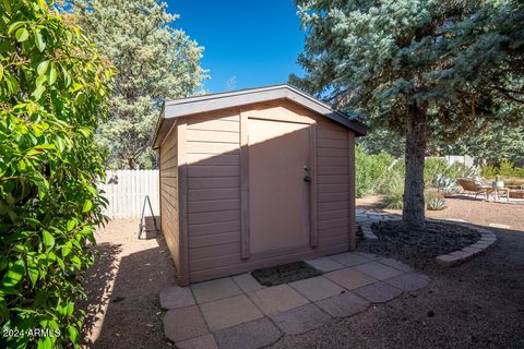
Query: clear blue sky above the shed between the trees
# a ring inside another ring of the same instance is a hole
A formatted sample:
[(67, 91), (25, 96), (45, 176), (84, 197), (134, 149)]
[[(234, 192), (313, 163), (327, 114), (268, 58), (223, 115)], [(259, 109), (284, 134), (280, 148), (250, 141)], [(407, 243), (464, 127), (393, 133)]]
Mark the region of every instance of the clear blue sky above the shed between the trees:
[(210, 93), (286, 83), (301, 74), (303, 32), (293, 0), (168, 0), (171, 23), (205, 48)]

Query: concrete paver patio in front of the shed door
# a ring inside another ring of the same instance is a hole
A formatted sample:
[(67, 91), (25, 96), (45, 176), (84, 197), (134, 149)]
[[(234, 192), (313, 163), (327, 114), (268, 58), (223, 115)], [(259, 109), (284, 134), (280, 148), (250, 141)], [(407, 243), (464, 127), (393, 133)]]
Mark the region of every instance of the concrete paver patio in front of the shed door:
[(186, 349), (255, 349), (426, 287), (429, 278), (391, 258), (346, 252), (307, 261), (322, 276), (274, 287), (249, 273), (160, 292), (165, 336)]

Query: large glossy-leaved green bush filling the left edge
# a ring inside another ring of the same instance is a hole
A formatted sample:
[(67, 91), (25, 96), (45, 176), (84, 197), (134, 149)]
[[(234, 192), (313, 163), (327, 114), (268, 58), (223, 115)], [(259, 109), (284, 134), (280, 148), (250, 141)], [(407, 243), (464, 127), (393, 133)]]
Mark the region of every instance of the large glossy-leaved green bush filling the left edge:
[(93, 142), (111, 71), (48, 2), (0, 2), (0, 318), (2, 348), (79, 344), (82, 279), (104, 222)]

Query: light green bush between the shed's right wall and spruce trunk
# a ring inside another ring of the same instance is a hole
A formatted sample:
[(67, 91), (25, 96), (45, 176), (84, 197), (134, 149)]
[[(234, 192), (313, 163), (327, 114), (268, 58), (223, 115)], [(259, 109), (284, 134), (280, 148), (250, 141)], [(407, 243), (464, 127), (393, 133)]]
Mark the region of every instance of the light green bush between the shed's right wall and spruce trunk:
[(393, 157), (386, 153), (367, 155), (360, 145), (355, 147), (357, 197), (377, 194), (386, 180)]

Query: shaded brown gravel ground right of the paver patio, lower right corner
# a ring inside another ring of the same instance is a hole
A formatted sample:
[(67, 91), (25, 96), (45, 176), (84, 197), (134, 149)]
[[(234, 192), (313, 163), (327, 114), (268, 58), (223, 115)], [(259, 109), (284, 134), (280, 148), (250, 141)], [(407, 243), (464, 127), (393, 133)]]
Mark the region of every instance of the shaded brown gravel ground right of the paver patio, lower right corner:
[(425, 270), (429, 287), (272, 348), (524, 348), (524, 233), (497, 230), (488, 252)]

